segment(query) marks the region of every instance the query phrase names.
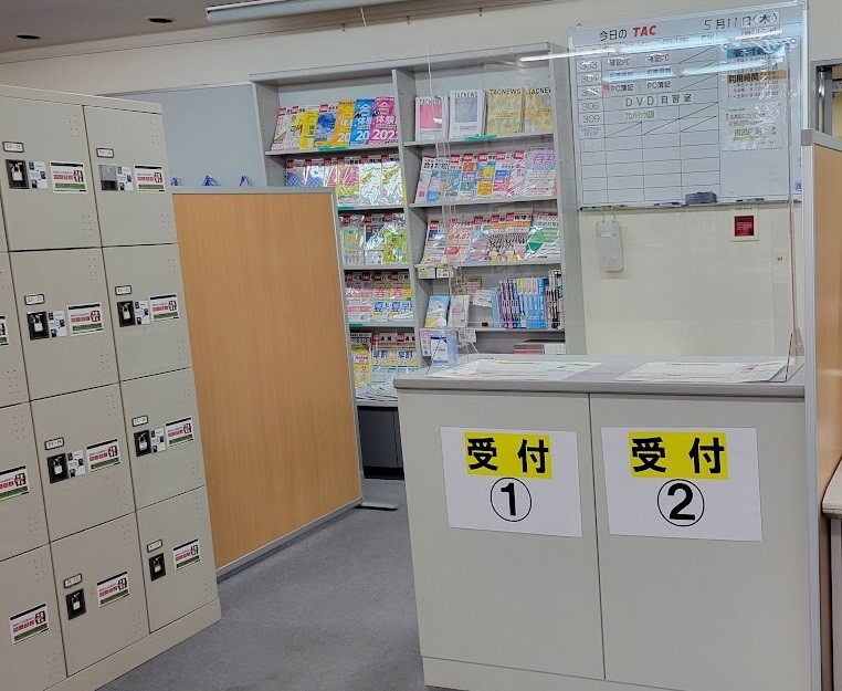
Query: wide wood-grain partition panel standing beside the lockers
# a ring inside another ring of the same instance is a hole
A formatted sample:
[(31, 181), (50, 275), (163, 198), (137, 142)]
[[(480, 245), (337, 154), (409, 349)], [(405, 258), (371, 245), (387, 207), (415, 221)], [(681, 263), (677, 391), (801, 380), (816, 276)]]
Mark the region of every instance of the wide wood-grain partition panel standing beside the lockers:
[(328, 192), (175, 195), (217, 566), (361, 496)]

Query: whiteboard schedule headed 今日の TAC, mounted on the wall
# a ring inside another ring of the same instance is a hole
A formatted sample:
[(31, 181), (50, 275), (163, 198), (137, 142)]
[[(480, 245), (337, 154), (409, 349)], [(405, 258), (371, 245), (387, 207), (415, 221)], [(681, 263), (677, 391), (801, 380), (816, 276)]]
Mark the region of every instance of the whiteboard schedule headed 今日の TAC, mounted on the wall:
[[(570, 30), (579, 206), (801, 191), (801, 2)], [(712, 195), (711, 195), (712, 192)]]

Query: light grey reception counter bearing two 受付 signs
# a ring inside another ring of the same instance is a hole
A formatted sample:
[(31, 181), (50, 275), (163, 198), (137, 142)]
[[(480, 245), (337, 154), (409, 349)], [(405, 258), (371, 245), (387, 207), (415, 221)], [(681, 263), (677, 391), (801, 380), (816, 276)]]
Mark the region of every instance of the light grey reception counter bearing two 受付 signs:
[(644, 362), (396, 380), (427, 684), (813, 688), (803, 371), (617, 380)]

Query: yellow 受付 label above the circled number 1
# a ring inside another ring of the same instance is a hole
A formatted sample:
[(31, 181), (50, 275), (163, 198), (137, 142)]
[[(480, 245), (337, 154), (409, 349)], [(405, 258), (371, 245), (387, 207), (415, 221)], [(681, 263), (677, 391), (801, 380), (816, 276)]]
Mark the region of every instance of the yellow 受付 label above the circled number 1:
[(552, 450), (548, 435), (534, 432), (464, 432), (469, 475), (552, 479)]

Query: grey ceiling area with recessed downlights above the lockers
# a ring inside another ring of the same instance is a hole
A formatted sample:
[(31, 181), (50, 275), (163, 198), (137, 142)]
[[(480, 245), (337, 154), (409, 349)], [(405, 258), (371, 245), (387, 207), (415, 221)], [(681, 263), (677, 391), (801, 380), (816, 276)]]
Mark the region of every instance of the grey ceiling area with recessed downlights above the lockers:
[[(225, 0), (0, 0), (0, 52), (208, 27), (204, 8)], [(155, 24), (150, 17), (173, 19)], [(38, 41), (18, 34), (41, 36)]]

